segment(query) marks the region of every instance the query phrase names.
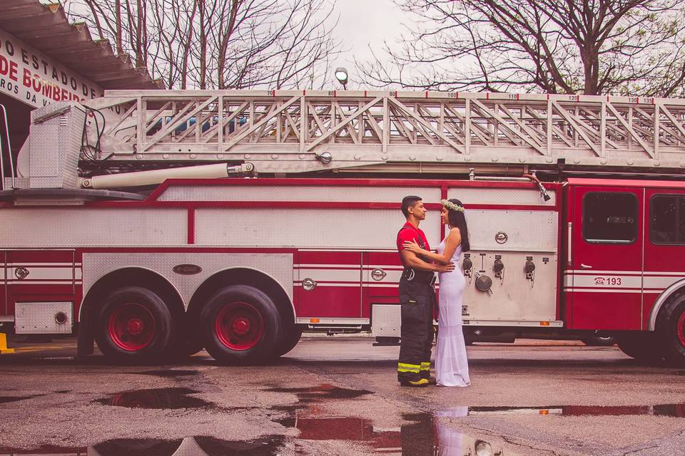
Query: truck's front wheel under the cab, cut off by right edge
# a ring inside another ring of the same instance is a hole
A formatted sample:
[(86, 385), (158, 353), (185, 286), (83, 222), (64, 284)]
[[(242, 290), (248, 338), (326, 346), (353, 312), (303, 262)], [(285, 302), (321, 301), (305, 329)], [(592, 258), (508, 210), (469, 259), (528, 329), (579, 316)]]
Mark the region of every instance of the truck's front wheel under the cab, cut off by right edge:
[(663, 338), (666, 361), (685, 366), (685, 290), (666, 301), (656, 321), (656, 332)]

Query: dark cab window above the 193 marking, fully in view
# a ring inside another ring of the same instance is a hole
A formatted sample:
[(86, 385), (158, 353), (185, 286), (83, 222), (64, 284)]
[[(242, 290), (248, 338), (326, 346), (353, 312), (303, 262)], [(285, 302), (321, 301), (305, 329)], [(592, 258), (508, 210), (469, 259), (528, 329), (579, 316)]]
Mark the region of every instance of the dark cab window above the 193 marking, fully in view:
[(631, 193), (591, 192), (583, 199), (583, 239), (629, 244), (637, 237), (637, 198)]

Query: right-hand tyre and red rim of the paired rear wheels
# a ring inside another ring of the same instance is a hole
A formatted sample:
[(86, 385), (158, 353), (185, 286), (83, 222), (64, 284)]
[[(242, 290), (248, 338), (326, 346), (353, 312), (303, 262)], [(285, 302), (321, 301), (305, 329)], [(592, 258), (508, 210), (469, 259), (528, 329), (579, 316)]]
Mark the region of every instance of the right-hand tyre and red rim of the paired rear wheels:
[(251, 364), (273, 358), (280, 316), (263, 291), (226, 286), (203, 306), (200, 319), (205, 348), (219, 363)]

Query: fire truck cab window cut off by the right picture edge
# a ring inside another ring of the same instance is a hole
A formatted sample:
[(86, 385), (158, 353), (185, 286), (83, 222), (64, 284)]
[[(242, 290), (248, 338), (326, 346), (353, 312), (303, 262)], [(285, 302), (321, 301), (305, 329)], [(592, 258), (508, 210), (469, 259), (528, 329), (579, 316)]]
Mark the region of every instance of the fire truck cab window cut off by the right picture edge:
[(653, 244), (685, 244), (685, 195), (654, 195), (649, 239)]

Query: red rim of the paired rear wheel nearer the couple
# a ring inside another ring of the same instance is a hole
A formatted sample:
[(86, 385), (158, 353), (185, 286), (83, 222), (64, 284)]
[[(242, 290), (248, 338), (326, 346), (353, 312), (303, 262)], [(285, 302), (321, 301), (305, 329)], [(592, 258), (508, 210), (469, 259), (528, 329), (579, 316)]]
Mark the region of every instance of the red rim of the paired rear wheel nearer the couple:
[(253, 348), (262, 338), (264, 321), (251, 304), (233, 302), (221, 308), (216, 316), (216, 336), (231, 350)]

